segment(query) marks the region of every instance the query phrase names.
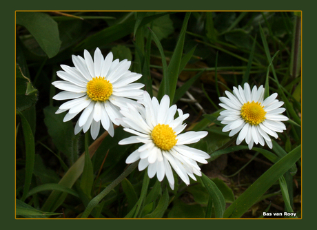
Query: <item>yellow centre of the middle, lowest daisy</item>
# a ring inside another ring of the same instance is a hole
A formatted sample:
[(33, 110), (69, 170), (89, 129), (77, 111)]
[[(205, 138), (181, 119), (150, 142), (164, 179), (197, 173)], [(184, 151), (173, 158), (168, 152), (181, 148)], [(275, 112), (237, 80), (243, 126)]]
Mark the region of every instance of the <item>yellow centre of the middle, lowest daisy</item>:
[(176, 134), (169, 125), (156, 125), (152, 131), (154, 144), (163, 150), (170, 150), (176, 145)]

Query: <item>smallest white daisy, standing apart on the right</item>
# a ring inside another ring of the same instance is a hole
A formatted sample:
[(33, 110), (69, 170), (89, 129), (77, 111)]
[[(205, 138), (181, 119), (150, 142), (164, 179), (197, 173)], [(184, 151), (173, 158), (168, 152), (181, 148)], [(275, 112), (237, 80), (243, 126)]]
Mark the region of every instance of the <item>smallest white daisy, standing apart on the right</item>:
[(284, 102), (276, 100), (277, 93), (268, 96), (264, 100), (264, 87), (254, 86), (252, 91), (248, 83), (244, 89), (239, 85), (234, 87), (233, 93), (225, 91), (227, 97), (221, 97), (219, 105), (225, 108), (220, 112), (218, 121), (225, 124), (223, 132), (229, 132), (229, 136), (234, 136), (238, 132), (236, 145), (240, 145), (245, 139), (252, 149), (254, 143), (264, 146), (265, 143), (272, 149), (272, 140), (269, 137), (278, 138), (276, 132), (286, 130), (284, 123), (288, 118), (281, 113), (285, 108), (280, 108)]

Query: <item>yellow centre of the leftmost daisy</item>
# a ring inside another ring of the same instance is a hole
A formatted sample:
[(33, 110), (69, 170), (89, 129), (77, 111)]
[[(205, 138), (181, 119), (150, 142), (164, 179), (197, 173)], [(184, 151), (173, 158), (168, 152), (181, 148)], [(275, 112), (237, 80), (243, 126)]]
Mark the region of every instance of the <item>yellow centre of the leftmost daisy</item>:
[(87, 83), (87, 95), (94, 101), (105, 101), (112, 94), (112, 84), (105, 77), (96, 76)]

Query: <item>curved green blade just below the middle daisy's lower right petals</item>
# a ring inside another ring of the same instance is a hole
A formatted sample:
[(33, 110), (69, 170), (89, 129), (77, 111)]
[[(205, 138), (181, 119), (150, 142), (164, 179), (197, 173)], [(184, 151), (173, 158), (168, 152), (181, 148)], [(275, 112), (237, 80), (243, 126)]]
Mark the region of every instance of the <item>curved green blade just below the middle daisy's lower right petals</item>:
[(225, 211), (225, 198), (223, 197), (223, 194), (221, 194), (217, 185), (205, 174), (201, 176), (201, 180), (203, 180), (203, 184), (205, 185), (209, 196), (212, 198), (216, 218), (223, 218), (223, 213)]

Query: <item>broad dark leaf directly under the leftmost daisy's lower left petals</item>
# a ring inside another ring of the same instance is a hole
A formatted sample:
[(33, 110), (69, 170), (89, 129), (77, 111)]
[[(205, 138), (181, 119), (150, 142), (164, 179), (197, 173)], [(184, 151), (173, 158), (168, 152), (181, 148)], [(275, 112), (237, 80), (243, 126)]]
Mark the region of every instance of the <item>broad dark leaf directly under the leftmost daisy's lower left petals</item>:
[(48, 134), (52, 137), (54, 145), (67, 156), (70, 165), (77, 158), (77, 140), (78, 136), (74, 134), (72, 121), (63, 122), (65, 113), (55, 114), (58, 107), (48, 106), (43, 109), (44, 123), (48, 127)]

